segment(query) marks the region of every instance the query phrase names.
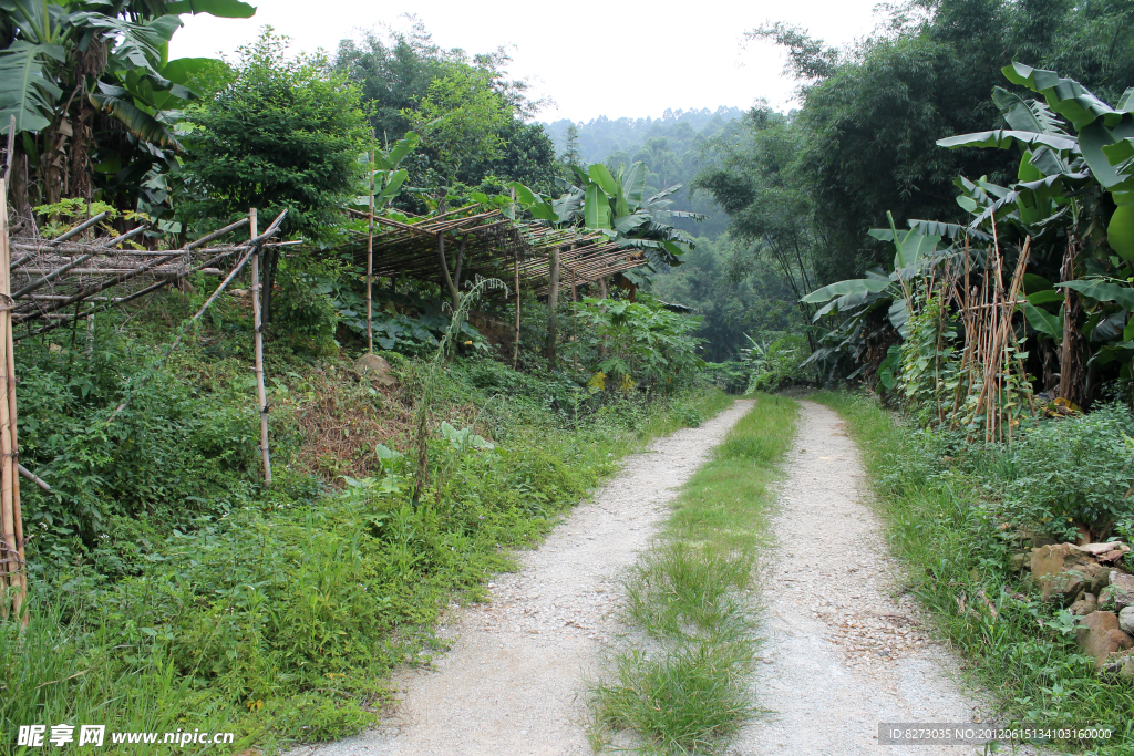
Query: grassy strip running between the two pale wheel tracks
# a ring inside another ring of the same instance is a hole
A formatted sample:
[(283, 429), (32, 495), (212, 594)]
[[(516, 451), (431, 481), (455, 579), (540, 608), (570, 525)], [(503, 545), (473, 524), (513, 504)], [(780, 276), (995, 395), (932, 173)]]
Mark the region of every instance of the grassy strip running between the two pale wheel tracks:
[(596, 749), (629, 729), (645, 753), (719, 753), (759, 713), (747, 688), (759, 642), (758, 555), (770, 543), (770, 486), (797, 410), (789, 399), (758, 394), (629, 571), (626, 619), (640, 635), (592, 690)]

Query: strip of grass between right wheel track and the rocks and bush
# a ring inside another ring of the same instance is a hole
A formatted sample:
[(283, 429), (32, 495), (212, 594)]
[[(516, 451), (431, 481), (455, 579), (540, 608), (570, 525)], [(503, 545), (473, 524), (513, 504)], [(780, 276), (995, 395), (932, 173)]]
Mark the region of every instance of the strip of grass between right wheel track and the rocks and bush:
[(1018, 721), (1107, 727), (1107, 741), (1060, 742), (1074, 753), (1129, 754), (1134, 682), (1100, 678), (1077, 653), (1074, 621), (1007, 569), (1010, 530), (995, 511), (1008, 456), (967, 450), (960, 465), (931, 436), (911, 432), (877, 402), (813, 394), (837, 410), (862, 448), (889, 542), (905, 560), (909, 589), (967, 661), (973, 682)]

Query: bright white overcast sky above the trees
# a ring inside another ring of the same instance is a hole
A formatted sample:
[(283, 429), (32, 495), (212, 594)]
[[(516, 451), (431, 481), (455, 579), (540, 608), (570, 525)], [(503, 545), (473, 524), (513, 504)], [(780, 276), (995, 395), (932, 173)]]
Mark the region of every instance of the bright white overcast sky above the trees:
[[(231, 53), (264, 24), (293, 37), (294, 50), (333, 52), (342, 37), (381, 24), (405, 28), (416, 14), (443, 48), (488, 52), (509, 45), (509, 73), (527, 78), (535, 96), (556, 101), (539, 120), (598, 116), (659, 117), (667, 108), (748, 108), (767, 99), (782, 108), (795, 82), (782, 76), (782, 53), (759, 42), (742, 46), (745, 31), (768, 20), (799, 24), (828, 44), (864, 36), (877, 0), (792, 2), (506, 3), (469, 0), (358, 2), (249, 0), (249, 19), (183, 16), (171, 57)], [(702, 0), (703, 1), (703, 0)]]

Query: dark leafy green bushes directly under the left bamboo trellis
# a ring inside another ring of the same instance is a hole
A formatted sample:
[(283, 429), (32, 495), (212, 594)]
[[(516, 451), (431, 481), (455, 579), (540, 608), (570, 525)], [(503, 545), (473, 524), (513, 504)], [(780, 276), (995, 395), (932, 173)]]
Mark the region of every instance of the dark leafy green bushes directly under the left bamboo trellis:
[[(22, 456), (52, 485), (50, 493), (22, 489), (35, 574), (113, 550), (121, 540), (108, 543), (107, 533), (122, 518), (168, 533), (254, 498), (257, 416), (239, 390), (202, 393), (150, 372), (153, 352), (112, 329), (90, 357), (82, 346), (54, 346), (17, 348)], [(108, 422), (127, 392), (129, 407)], [(103, 554), (110, 572), (136, 566), (149, 537), (136, 532), (128, 540), (134, 545), (122, 546), (129, 553), (120, 562)]]

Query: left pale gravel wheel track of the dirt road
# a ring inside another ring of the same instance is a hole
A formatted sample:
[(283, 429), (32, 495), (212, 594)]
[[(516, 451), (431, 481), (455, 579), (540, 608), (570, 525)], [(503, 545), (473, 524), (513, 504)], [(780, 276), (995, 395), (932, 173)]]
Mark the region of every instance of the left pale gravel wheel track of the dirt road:
[(395, 678), (383, 725), (301, 756), (575, 756), (586, 738), (586, 680), (619, 631), (619, 577), (669, 513), (676, 490), (752, 407), (736, 401), (697, 428), (654, 441), (576, 507), (486, 604), (457, 610), (435, 671)]

